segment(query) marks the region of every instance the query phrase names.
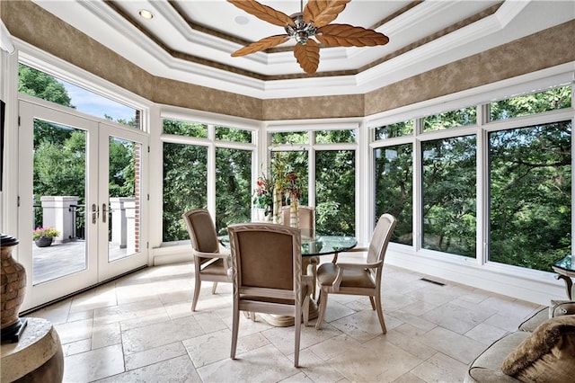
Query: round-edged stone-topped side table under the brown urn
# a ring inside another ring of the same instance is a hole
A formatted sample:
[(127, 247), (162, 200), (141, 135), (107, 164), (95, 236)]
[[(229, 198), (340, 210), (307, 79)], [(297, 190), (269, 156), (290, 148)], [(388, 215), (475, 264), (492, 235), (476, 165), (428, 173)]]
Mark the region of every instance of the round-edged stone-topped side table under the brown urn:
[(28, 317), (17, 343), (3, 343), (0, 381), (61, 382), (64, 376), (62, 344), (52, 324)]

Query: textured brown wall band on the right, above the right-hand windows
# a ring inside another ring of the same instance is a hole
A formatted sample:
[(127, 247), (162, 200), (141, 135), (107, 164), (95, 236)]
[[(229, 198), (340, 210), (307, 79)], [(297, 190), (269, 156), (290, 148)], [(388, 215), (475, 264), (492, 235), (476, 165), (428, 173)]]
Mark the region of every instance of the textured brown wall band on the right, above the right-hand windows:
[(575, 21), (366, 94), (365, 115), (575, 61)]

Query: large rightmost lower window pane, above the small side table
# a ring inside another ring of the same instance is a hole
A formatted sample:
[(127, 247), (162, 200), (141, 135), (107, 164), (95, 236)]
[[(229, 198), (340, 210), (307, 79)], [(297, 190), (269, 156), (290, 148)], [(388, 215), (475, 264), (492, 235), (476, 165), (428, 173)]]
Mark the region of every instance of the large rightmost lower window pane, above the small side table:
[(491, 132), (489, 259), (551, 272), (571, 254), (571, 121)]

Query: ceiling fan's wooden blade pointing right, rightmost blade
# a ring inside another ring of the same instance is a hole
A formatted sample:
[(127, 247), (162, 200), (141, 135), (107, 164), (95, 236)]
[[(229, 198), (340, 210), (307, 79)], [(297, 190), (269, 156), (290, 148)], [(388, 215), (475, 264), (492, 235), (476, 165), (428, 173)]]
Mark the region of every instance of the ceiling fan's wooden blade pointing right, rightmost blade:
[(373, 47), (389, 42), (383, 33), (348, 24), (326, 25), (317, 30), (315, 38), (330, 47)]

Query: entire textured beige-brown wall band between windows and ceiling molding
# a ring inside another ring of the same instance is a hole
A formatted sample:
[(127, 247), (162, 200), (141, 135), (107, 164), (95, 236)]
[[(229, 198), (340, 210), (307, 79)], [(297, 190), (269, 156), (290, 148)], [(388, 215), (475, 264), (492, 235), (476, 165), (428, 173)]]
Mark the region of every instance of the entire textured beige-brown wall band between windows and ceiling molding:
[(149, 74), (31, 1), (2, 1), (13, 36), (146, 99), (253, 120), (362, 117), (575, 61), (575, 21), (368, 94), (260, 100)]

